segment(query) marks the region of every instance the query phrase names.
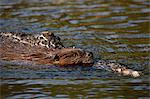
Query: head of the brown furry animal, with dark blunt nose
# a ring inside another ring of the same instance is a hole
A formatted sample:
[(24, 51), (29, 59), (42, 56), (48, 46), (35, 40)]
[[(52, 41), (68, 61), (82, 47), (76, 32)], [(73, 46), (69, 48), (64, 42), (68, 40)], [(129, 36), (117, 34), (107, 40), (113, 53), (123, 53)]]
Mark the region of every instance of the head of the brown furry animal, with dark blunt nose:
[(92, 65), (93, 54), (82, 49), (64, 48), (59, 50), (54, 58), (58, 65)]

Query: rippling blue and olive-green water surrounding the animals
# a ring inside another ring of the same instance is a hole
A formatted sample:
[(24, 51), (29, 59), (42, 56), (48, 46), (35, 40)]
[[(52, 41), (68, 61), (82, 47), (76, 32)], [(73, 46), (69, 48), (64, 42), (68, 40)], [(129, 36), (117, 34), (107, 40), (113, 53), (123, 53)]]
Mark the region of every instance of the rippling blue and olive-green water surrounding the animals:
[(148, 99), (148, 7), (148, 0), (0, 0), (1, 31), (54, 31), (66, 46), (144, 72), (130, 78), (89, 67), (1, 61), (1, 99)]

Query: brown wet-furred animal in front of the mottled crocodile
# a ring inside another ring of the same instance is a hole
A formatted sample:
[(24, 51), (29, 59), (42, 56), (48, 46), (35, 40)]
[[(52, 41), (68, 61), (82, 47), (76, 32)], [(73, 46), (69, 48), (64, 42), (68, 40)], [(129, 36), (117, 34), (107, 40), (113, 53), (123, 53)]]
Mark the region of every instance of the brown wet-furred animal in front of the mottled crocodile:
[(61, 66), (93, 64), (92, 53), (81, 49), (51, 49), (31, 46), (13, 41), (11, 38), (0, 38), (0, 59), (28, 60), (37, 64), (57, 64)]

